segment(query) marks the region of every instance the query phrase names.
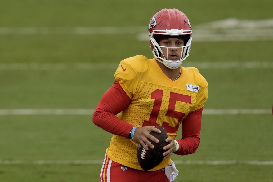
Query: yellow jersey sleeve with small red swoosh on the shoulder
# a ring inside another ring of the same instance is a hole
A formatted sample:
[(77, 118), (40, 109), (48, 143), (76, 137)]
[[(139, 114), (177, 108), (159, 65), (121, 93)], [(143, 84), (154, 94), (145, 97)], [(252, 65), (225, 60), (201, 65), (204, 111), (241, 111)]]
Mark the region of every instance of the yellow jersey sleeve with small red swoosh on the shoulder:
[(127, 60), (122, 60), (115, 74), (115, 81), (119, 82), (120, 86), (126, 92), (130, 99), (136, 92), (138, 86), (138, 77), (135, 70)]

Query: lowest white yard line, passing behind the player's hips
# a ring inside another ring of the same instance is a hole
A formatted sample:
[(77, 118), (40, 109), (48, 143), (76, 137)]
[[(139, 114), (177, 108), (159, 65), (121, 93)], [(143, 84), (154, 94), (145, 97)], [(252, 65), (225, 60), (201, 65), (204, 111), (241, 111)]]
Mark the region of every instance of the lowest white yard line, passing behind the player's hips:
[[(0, 165), (101, 165), (101, 160), (0, 160)], [(180, 161), (176, 165), (273, 165), (273, 161)]]

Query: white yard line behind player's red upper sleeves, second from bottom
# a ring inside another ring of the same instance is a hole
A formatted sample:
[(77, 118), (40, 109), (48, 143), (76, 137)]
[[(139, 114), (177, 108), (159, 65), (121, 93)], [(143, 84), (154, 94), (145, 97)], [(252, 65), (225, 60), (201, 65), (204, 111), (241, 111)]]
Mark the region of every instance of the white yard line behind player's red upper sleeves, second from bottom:
[[(0, 109), (0, 116), (93, 115), (94, 109)], [(204, 109), (204, 115), (272, 114), (272, 109)]]

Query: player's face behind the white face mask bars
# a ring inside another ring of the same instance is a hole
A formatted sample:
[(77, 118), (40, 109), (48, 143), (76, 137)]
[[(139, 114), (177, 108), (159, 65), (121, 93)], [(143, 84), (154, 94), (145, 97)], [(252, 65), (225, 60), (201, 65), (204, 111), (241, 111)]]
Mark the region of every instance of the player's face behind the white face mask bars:
[[(168, 52), (167, 52), (167, 48), (163, 48), (163, 47), (161, 48), (166, 59), (168, 57), (169, 60), (180, 60), (182, 49), (183, 49), (181, 46), (184, 46), (184, 41), (182, 39), (168, 38), (168, 39), (159, 41), (158, 44), (159, 46), (172, 47), (172, 48), (168, 48)], [(176, 48), (176, 47), (181, 47), (181, 48)], [(161, 55), (160, 57), (164, 58), (163, 55)]]

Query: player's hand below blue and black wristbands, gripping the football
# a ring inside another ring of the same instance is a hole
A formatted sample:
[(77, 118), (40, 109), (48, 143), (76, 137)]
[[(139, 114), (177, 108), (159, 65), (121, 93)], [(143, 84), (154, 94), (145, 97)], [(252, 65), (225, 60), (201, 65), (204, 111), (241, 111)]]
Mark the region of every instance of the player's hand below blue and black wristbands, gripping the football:
[(161, 133), (161, 131), (154, 126), (137, 127), (134, 132), (134, 140), (139, 142), (145, 150), (148, 150), (148, 147), (152, 149), (154, 148), (154, 145), (151, 144), (148, 139), (152, 140), (155, 143), (159, 142), (153, 135), (150, 135), (151, 131)]

